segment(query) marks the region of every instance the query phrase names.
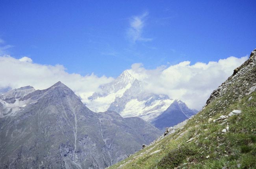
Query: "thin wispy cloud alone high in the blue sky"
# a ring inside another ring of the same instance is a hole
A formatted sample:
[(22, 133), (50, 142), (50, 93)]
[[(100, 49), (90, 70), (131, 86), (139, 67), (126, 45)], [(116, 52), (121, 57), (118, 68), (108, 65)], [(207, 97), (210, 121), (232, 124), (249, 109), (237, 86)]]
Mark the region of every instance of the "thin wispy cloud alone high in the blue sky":
[(130, 26), (127, 30), (127, 35), (128, 38), (132, 42), (137, 42), (137, 41), (151, 41), (152, 38), (144, 38), (142, 36), (143, 33), (143, 28), (145, 27), (145, 20), (148, 16), (148, 12), (143, 13), (143, 15), (140, 16), (133, 16), (130, 19)]

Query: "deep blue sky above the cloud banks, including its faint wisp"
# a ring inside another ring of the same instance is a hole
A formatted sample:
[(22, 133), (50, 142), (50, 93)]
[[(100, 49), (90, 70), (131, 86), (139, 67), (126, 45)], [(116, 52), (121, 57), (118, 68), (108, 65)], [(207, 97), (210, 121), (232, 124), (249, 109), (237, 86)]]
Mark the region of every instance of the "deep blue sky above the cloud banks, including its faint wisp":
[(0, 1), (0, 54), (117, 77), (256, 48), (255, 0)]

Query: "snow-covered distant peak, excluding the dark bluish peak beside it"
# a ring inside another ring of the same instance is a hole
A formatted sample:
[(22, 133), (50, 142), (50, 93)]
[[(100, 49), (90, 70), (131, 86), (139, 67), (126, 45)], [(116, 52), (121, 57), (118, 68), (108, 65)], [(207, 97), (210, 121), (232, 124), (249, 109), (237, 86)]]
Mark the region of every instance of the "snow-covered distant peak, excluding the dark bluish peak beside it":
[(115, 111), (123, 117), (140, 117), (150, 121), (159, 116), (172, 103), (167, 95), (146, 92), (142, 82), (134, 78), (128, 70), (119, 77), (100, 86), (101, 92), (95, 92), (86, 106), (95, 112)]

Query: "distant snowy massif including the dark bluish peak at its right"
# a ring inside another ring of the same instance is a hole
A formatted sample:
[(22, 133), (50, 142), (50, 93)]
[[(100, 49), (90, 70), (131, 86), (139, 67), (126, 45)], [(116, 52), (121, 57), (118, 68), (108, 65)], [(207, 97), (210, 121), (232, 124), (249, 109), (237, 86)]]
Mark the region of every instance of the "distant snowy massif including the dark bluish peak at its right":
[[(140, 117), (161, 130), (198, 112), (189, 109), (181, 100), (145, 91), (142, 82), (134, 78), (128, 70), (112, 82), (101, 85), (100, 92), (93, 93), (88, 99), (87, 107), (95, 112), (109, 110), (122, 117)], [(167, 116), (168, 118), (163, 118)]]

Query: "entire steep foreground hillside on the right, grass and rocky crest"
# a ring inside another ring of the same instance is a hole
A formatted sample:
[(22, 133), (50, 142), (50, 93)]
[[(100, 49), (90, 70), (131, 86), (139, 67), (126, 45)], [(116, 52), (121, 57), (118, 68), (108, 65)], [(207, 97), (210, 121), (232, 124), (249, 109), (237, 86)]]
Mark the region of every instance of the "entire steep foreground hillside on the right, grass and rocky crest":
[(213, 91), (202, 111), (109, 168), (256, 168), (255, 89), (256, 49)]

